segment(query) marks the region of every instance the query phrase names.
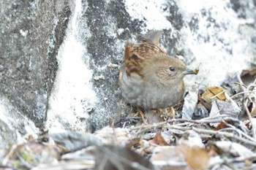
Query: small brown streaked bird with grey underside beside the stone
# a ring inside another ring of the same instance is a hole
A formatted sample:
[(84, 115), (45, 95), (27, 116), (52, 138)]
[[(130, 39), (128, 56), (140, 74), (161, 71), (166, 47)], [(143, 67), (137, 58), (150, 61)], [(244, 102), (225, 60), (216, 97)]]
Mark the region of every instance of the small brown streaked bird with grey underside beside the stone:
[(187, 69), (177, 58), (159, 47), (161, 31), (149, 31), (141, 44), (127, 43), (119, 84), (122, 96), (133, 106), (144, 109), (172, 107), (184, 96), (187, 74), (198, 70)]

